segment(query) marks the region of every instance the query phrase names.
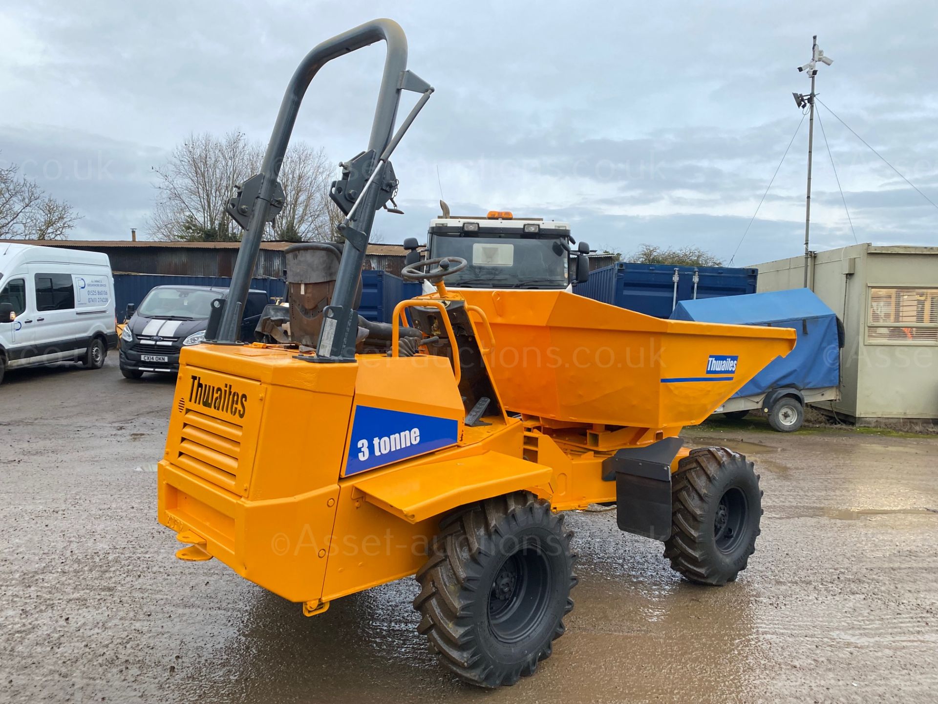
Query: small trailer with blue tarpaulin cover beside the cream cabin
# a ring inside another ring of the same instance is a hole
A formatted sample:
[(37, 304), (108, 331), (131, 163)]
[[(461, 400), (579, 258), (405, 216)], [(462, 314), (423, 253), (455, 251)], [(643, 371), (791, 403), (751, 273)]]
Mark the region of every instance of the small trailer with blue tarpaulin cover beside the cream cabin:
[(840, 399), (843, 329), (837, 315), (807, 288), (684, 300), (671, 317), (795, 330), (797, 343), (791, 354), (769, 362), (719, 407), (731, 418), (762, 408), (773, 428), (790, 433), (801, 427), (807, 404)]

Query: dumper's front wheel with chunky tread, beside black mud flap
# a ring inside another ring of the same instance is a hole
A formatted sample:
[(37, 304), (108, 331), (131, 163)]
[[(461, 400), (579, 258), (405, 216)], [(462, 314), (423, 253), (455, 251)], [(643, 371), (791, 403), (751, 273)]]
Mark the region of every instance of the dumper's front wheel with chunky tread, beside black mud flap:
[(691, 582), (723, 585), (746, 569), (762, 517), (759, 475), (726, 448), (690, 451), (672, 477), (671, 537), (664, 557)]

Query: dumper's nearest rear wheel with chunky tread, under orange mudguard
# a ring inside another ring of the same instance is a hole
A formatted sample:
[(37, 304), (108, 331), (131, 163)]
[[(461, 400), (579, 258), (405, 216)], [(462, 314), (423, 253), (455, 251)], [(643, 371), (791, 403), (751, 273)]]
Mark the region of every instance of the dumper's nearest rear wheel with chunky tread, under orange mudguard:
[(498, 687), (534, 674), (573, 608), (572, 537), (563, 517), (527, 492), (447, 516), (416, 574), (417, 632), (463, 681)]

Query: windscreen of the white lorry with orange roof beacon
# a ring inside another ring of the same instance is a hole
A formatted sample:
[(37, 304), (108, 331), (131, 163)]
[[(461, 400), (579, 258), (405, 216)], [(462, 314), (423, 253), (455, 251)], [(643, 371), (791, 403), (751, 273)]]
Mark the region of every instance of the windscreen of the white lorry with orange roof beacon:
[(431, 256), (459, 256), (469, 266), (446, 277), (450, 286), (565, 288), (569, 254), (559, 237), (469, 237), (434, 234)]

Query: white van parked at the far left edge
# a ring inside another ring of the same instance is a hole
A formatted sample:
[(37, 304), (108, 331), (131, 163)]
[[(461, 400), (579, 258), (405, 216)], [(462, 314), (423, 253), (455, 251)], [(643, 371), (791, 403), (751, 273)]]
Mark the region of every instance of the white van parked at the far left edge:
[(100, 369), (116, 344), (107, 254), (0, 240), (0, 381), (59, 361)]

